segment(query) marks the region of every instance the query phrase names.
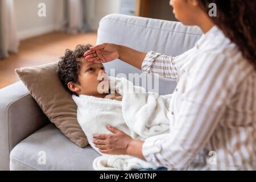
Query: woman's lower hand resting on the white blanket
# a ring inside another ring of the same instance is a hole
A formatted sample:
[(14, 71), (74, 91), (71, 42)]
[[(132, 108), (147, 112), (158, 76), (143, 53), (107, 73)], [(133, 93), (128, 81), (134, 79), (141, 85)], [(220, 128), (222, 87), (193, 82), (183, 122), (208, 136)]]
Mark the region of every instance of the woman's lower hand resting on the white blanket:
[(95, 134), (94, 145), (104, 154), (127, 155), (127, 148), (133, 140), (129, 135), (112, 126), (107, 126), (113, 134)]

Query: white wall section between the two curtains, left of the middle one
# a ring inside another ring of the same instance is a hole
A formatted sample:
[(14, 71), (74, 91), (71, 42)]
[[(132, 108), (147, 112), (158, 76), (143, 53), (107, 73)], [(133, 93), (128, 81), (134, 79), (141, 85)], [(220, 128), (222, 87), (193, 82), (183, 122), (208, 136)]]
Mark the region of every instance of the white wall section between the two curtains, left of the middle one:
[[(46, 3), (46, 17), (38, 16), (39, 3)], [(26, 39), (59, 30), (64, 0), (14, 0), (18, 38)]]

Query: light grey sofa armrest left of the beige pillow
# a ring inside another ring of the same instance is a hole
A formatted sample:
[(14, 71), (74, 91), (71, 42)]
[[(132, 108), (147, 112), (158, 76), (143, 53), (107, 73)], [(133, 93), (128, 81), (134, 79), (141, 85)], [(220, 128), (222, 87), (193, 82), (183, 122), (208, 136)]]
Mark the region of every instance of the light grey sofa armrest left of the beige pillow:
[(0, 97), (0, 170), (9, 170), (11, 150), (49, 121), (20, 81), (0, 89)]

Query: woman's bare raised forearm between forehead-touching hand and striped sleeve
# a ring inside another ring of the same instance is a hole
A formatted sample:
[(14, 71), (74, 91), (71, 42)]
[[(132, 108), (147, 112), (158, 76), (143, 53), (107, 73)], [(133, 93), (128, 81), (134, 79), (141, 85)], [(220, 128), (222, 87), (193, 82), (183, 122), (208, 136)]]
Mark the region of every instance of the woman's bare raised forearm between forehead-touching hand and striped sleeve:
[(119, 46), (119, 59), (141, 69), (142, 62), (147, 53), (136, 51), (126, 46)]

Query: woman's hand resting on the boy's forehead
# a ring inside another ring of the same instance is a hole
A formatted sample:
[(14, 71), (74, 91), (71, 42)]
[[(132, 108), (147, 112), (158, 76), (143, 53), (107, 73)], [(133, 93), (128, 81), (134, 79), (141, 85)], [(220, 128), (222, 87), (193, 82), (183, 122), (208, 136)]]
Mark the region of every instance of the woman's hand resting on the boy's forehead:
[(94, 63), (106, 63), (120, 57), (120, 47), (116, 44), (104, 43), (95, 47), (90, 47), (84, 53), (86, 60)]

